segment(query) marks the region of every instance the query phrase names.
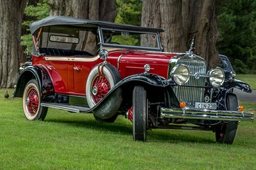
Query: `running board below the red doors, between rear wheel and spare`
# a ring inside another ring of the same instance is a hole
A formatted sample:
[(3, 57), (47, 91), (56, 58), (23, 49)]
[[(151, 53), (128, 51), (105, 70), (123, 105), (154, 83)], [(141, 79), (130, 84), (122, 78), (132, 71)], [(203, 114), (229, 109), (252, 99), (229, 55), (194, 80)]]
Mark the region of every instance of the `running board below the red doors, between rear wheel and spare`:
[(70, 111), (75, 113), (91, 113), (89, 107), (74, 106), (63, 103), (41, 103), (41, 106), (47, 108), (58, 108), (64, 111)]

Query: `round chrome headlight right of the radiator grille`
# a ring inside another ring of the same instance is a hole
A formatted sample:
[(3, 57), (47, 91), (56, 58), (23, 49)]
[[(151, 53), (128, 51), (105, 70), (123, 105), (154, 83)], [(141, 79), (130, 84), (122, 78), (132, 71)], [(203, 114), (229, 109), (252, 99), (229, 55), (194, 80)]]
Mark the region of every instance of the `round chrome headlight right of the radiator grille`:
[(210, 84), (214, 87), (221, 86), (224, 82), (225, 75), (223, 69), (219, 67), (212, 69), (208, 72)]

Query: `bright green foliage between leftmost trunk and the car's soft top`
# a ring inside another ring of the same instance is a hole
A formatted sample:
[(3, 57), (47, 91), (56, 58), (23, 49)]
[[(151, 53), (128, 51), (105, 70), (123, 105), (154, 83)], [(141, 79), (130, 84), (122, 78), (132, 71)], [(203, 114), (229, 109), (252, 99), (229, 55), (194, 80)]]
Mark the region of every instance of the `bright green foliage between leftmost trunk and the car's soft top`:
[(28, 2), (28, 5), (25, 8), (22, 26), (27, 30), (27, 34), (21, 36), (21, 45), (27, 47), (25, 51), (26, 54), (31, 54), (33, 47), (29, 26), (33, 21), (41, 20), (49, 16), (50, 6), (48, 6), (47, 2), (48, 0), (39, 0), (36, 4), (29, 4)]

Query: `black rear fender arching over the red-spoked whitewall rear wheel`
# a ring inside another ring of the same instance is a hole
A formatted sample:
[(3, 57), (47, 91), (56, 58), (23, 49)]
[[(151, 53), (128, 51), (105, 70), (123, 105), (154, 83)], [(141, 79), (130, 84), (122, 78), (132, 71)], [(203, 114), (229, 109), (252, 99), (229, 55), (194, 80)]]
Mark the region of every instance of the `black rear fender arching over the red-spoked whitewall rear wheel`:
[(47, 69), (42, 65), (28, 66), (21, 72), (16, 89), (14, 91), (14, 97), (22, 97), (26, 84), (31, 79), (38, 81), (39, 88), (41, 89), (42, 101), (53, 102), (54, 101), (54, 87), (50, 79), (50, 75)]

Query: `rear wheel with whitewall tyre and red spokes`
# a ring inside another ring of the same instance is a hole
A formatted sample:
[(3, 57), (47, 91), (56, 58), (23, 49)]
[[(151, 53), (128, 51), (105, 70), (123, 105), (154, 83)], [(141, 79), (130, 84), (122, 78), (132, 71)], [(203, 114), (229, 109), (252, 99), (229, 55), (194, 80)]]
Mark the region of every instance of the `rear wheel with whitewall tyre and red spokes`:
[(23, 92), (23, 111), (28, 120), (44, 120), (48, 108), (41, 106), (41, 93), (38, 81), (31, 79)]

